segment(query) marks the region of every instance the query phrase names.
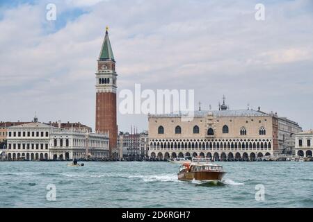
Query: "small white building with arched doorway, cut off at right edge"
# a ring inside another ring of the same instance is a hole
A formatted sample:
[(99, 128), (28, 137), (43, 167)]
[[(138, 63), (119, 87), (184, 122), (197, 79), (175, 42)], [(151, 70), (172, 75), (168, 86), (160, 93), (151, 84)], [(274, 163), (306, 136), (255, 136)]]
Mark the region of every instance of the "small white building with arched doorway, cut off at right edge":
[(296, 134), (296, 155), (300, 157), (312, 157), (313, 130), (307, 130)]

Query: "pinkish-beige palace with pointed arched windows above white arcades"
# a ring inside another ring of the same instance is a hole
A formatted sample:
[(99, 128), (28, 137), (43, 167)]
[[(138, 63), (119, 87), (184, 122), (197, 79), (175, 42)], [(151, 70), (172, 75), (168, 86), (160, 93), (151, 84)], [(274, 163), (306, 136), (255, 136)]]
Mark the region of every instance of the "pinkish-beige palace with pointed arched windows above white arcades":
[(224, 101), (220, 110), (195, 111), (191, 121), (182, 121), (182, 117), (182, 113), (149, 115), (149, 157), (255, 160), (280, 153), (277, 114), (229, 110)]

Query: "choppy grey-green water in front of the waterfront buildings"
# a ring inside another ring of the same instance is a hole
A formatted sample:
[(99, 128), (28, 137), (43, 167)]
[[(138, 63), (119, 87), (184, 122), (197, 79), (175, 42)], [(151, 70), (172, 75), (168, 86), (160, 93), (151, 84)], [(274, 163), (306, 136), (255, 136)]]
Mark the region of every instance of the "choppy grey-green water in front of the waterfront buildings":
[(313, 207), (313, 162), (219, 162), (227, 174), (218, 185), (181, 182), (167, 162), (66, 164), (0, 162), (0, 207)]

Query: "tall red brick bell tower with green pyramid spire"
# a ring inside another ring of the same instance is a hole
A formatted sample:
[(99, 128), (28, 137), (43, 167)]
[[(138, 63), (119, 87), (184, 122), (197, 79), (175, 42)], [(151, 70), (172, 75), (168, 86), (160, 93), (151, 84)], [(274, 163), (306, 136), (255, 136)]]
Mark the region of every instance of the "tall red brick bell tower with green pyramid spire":
[(109, 131), (109, 153), (117, 148), (118, 127), (116, 124), (116, 77), (115, 60), (106, 27), (96, 72), (96, 119), (95, 128), (99, 132)]

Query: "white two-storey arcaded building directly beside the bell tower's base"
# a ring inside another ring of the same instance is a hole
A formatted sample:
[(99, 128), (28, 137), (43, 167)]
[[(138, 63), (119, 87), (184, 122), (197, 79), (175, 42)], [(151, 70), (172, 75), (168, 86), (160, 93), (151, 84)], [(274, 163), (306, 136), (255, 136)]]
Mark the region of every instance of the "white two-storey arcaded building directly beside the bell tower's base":
[(49, 160), (103, 160), (108, 157), (108, 133), (91, 133), (88, 130), (51, 130)]

